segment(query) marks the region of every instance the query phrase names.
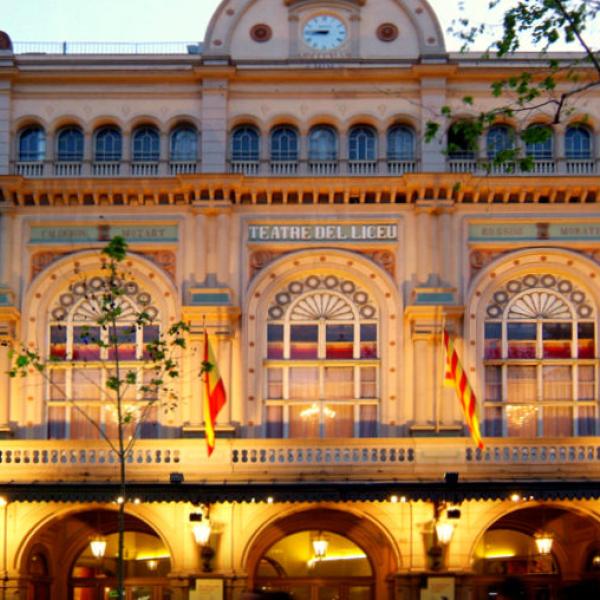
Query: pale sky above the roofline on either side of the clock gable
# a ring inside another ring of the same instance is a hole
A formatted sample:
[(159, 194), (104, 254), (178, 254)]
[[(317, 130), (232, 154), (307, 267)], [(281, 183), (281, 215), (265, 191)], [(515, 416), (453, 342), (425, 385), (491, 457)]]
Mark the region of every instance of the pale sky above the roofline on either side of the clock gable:
[[(14, 42), (198, 42), (204, 39), (219, 2), (0, 0), (0, 30), (6, 31)], [(464, 0), (465, 14), (475, 21), (490, 18), (487, 3), (487, 0)], [(430, 0), (430, 4), (444, 31), (460, 14), (458, 0)], [(484, 46), (482, 43), (481, 47)], [(460, 42), (446, 34), (446, 47), (458, 50)]]

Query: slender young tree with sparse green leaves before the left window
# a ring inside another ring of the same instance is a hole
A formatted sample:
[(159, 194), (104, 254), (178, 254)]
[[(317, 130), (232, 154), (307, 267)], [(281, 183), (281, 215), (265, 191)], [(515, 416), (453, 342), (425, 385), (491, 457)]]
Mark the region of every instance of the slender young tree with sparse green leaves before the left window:
[[(127, 243), (122, 237), (113, 238), (102, 250), (100, 277), (94, 277), (93, 285), (84, 285), (84, 302), (91, 314), (92, 325), (84, 325), (78, 329), (78, 343), (87, 348), (97, 349), (95, 361), (106, 370), (104, 388), (100, 389), (103, 402), (110, 403), (116, 413), (117, 436), (111, 439), (102, 424), (90, 415), (73, 397), (68, 397), (64, 387), (57, 385), (51, 377), (52, 366), (59, 360), (68, 357), (50, 355), (46, 357), (35, 348), (25, 343), (15, 344), (11, 349), (11, 377), (28, 377), (31, 373), (39, 373), (52, 389), (60, 394), (83, 419), (85, 419), (115, 453), (119, 465), (119, 498), (118, 502), (118, 556), (117, 556), (117, 594), (124, 596), (124, 533), (125, 507), (127, 497), (127, 461), (140, 430), (146, 422), (150, 411), (157, 405), (165, 410), (172, 410), (177, 404), (177, 394), (173, 387), (179, 378), (179, 355), (186, 348), (188, 326), (183, 322), (173, 324), (166, 331), (152, 327), (152, 339), (145, 340), (143, 356), (144, 372), (147, 377), (140, 378), (139, 370), (133, 368), (131, 356), (125, 356), (124, 345), (138, 330), (152, 326), (156, 315), (142, 306), (131, 310), (132, 304), (126, 300), (131, 285), (136, 285), (123, 266), (127, 255)], [(100, 258), (100, 257), (99, 257)], [(85, 281), (81, 283), (86, 283)], [(129, 363), (129, 364), (128, 364)], [(204, 366), (203, 369), (210, 368)], [(85, 372), (85, 369), (83, 370)], [(88, 378), (91, 385), (97, 382)], [(132, 406), (128, 402), (131, 391), (138, 400)]]

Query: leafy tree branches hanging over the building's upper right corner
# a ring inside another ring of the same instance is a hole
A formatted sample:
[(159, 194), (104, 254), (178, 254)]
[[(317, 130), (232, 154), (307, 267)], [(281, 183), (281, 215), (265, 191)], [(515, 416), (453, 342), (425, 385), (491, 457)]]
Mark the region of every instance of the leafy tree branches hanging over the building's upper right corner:
[[(459, 4), (464, 11), (464, 3)], [(462, 99), (461, 112), (467, 107), (472, 113), (468, 118), (457, 118), (456, 109), (444, 106), (436, 120), (427, 124), (425, 137), (433, 140), (441, 134), (440, 120), (449, 121), (449, 154), (460, 150), (474, 152), (484, 131), (502, 118), (544, 111), (554, 124), (560, 123), (573, 113), (578, 99), (600, 86), (600, 53), (591, 42), (591, 26), (600, 16), (600, 0), (489, 0), (488, 9), (489, 23), (473, 24), (466, 16), (453, 22), (451, 32), (463, 42), (463, 50), (470, 49), (483, 36), (491, 36), (493, 41), (483, 58), (503, 58), (532, 42), (539, 48), (543, 64), (535, 70), (493, 81), (491, 94), (498, 103), (492, 109), (476, 112), (472, 96)], [(499, 34), (495, 22), (501, 23)], [(568, 44), (578, 52), (560, 57), (550, 54), (559, 44)], [(544, 142), (550, 135), (551, 130), (541, 126), (520, 133), (529, 145)], [(460, 144), (452, 140), (460, 140)], [(500, 164), (518, 164), (522, 170), (529, 170), (532, 158), (522, 156), (518, 147), (511, 144), (494, 153), (487, 166)]]

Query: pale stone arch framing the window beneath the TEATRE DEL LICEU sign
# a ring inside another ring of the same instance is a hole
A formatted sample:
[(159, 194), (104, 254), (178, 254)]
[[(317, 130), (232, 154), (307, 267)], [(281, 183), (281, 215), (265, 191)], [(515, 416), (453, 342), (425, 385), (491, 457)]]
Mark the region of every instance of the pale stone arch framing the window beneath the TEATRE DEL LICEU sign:
[[(399, 393), (399, 382), (402, 381), (403, 363), (400, 357), (402, 341), (403, 302), (392, 276), (374, 260), (361, 254), (347, 250), (312, 249), (300, 250), (274, 260), (258, 273), (251, 282), (244, 298), (243, 314), (248, 315), (242, 324), (242, 347), (246, 348), (245, 364), (258, 365), (266, 348), (266, 328), (264, 321), (257, 315), (266, 315), (269, 302), (283, 287), (297, 277), (309, 274), (334, 274), (348, 278), (357, 286), (369, 292), (373, 297), (379, 314), (379, 344), (381, 348), (380, 397), (396, 397)], [(390, 368), (390, 367), (393, 367)], [(246, 397), (260, 396), (262, 389), (262, 369), (253, 369), (245, 375), (243, 383)], [(396, 405), (398, 403), (392, 403)], [(253, 418), (259, 418), (261, 403), (252, 403), (256, 411)], [(381, 403), (381, 422), (390, 418), (390, 403)]]

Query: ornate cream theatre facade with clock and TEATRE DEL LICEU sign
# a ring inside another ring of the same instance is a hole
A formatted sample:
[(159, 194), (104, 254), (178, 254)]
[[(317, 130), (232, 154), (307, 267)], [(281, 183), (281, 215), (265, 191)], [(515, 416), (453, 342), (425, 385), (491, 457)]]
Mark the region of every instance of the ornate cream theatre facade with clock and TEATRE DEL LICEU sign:
[[(35, 50), (0, 37), (2, 598), (114, 588), (118, 465), (81, 411), (114, 435), (82, 332), (115, 235), (127, 306), (190, 324), (179, 401), (128, 463), (128, 599), (597, 582), (595, 91), (478, 151), (425, 142), (443, 106), (492, 107), (493, 81), (543, 68), (446, 52), (426, 0), (223, 0), (181, 52)], [(552, 127), (531, 171), (482, 167), (531, 126)], [(205, 330), (228, 395), (210, 457)], [(444, 330), (483, 449), (443, 385)], [(124, 340), (140, 380), (145, 335)], [(55, 358), (49, 381), (8, 376), (16, 342)]]

